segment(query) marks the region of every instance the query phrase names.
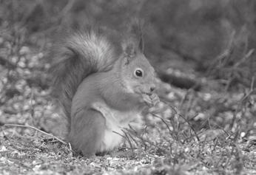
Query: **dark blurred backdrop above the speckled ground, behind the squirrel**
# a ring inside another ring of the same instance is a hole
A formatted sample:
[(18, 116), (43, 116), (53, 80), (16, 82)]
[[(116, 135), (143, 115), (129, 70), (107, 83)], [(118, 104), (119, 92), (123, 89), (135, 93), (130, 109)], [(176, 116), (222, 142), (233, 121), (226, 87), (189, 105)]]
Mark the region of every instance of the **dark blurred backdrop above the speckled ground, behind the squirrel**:
[[(247, 85), (250, 79), (243, 78), (255, 73), (255, 59), (250, 58), (241, 63), (250, 65), (243, 72), (236, 69), (238, 75), (230, 75), (235, 74), (231, 68), (255, 48), (255, 1), (1, 0), (0, 8), (2, 27), (48, 38), (63, 27), (104, 24), (118, 28), (129, 18), (142, 18), (145, 52), (154, 63), (164, 61), (166, 67), (177, 68), (181, 62), (178, 68), (186, 70), (186, 61), (198, 72), (220, 79), (234, 76)], [(218, 71), (209, 71), (212, 66)]]

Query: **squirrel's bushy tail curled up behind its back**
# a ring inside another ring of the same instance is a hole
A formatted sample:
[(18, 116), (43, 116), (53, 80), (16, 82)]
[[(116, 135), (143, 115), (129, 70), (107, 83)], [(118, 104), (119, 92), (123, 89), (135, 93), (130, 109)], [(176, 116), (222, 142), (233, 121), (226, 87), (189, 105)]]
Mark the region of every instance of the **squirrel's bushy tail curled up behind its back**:
[(84, 78), (93, 72), (111, 69), (121, 48), (118, 35), (102, 29), (66, 32), (53, 47), (50, 74), (53, 78), (53, 96), (64, 109), (70, 123), (71, 103)]

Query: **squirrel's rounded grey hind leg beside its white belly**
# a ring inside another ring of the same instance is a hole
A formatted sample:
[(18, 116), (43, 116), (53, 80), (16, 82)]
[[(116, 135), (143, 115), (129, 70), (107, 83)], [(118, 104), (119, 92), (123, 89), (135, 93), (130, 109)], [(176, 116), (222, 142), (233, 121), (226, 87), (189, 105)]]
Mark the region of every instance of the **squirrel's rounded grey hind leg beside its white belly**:
[(93, 109), (82, 109), (72, 118), (68, 140), (75, 151), (81, 151), (85, 157), (95, 155), (101, 148), (106, 128), (102, 114)]

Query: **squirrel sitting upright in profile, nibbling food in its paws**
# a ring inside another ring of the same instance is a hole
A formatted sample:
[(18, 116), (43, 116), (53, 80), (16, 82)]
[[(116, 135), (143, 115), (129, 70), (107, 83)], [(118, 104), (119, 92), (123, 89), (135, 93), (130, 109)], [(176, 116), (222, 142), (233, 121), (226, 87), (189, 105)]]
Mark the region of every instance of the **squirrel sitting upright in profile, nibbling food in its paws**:
[(67, 141), (75, 151), (85, 157), (111, 151), (123, 140), (122, 128), (142, 128), (142, 111), (159, 98), (138, 24), (127, 32), (75, 30), (53, 52), (53, 93), (67, 116)]

